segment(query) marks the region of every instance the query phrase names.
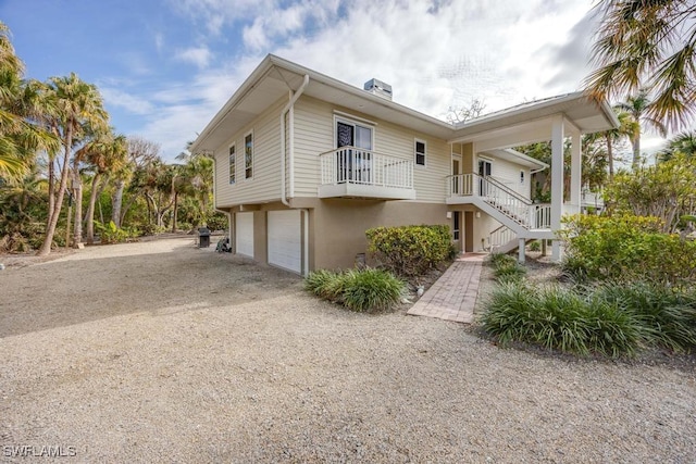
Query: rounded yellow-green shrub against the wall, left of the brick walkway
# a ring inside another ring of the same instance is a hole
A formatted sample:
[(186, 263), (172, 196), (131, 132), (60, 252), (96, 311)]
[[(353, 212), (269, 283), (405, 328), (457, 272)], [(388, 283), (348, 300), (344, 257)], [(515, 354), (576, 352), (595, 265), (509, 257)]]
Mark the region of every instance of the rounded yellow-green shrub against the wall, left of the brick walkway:
[(423, 275), (452, 255), (449, 226), (375, 227), (368, 250), (396, 274)]

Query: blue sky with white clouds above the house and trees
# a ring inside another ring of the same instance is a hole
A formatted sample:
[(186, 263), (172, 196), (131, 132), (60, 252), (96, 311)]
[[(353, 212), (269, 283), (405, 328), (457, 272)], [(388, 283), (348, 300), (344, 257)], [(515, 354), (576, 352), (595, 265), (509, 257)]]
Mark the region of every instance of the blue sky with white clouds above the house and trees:
[[(445, 118), (581, 88), (592, 0), (0, 0), (26, 77), (77, 73), (173, 160), (266, 53)], [(657, 143), (657, 142), (655, 142)], [(645, 148), (650, 148), (650, 141)]]

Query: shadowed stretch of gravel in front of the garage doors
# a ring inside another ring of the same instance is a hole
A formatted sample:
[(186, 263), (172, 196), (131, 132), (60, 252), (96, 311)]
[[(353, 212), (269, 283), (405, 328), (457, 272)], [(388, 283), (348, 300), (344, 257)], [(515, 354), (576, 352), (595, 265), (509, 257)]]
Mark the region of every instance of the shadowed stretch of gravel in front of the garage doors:
[(144, 311), (244, 304), (300, 291), (301, 278), (186, 244), (3, 271), (0, 288), (2, 338)]

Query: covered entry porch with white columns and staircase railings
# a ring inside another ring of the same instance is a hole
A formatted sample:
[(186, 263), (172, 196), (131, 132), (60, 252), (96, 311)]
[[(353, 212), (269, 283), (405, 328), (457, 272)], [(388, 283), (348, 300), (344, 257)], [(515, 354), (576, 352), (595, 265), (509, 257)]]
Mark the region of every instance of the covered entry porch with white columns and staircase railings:
[[(607, 103), (597, 103), (581, 92), (524, 103), (463, 123), (449, 140), (453, 154), (452, 173), (445, 186), (446, 202), (450, 208), (474, 205), (509, 228), (521, 262), (525, 260), (524, 244), (530, 239), (551, 239), (551, 258), (559, 261), (561, 218), (582, 211), (582, 136), (617, 126)], [(564, 198), (567, 140), (571, 152), (570, 195)], [(529, 192), (506, 185), (485, 166), (492, 153), (514, 155), (513, 147), (540, 141), (550, 141), (551, 146), (549, 204), (533, 203)], [(457, 163), (461, 163), (459, 168)]]

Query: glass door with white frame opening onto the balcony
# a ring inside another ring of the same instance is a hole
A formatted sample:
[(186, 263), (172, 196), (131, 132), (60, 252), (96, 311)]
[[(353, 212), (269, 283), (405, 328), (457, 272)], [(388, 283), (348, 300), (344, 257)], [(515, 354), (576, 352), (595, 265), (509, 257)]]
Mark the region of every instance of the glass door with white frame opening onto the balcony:
[(372, 128), (337, 121), (336, 148), (341, 147), (355, 147), (355, 149), (337, 151), (337, 181), (370, 184), (372, 171)]

